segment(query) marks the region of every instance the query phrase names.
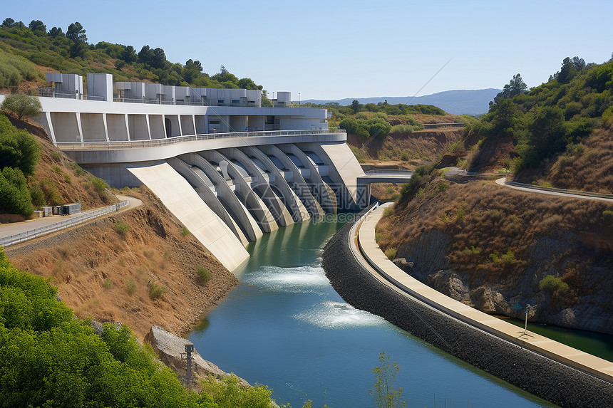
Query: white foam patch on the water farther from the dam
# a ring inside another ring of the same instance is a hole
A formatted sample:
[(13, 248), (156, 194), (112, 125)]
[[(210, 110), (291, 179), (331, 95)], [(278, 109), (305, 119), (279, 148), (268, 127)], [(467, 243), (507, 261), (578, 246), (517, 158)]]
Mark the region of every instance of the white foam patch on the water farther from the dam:
[(348, 303), (332, 300), (314, 305), (306, 313), (294, 315), (294, 318), (324, 329), (378, 326), (385, 323), (383, 318), (356, 309)]

